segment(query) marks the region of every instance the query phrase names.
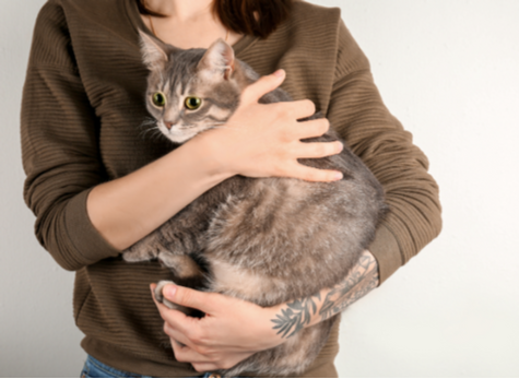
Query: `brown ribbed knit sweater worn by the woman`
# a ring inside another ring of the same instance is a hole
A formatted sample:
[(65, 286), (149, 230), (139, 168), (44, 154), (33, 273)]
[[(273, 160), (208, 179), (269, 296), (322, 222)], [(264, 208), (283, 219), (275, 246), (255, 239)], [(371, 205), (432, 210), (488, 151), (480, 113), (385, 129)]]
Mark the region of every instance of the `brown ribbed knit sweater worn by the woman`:
[[(86, 213), (93, 187), (170, 150), (140, 128), (149, 115), (138, 28), (148, 31), (133, 0), (44, 5), (23, 94), (24, 197), (40, 244), (76, 273), (74, 318), (85, 351), (122, 370), (193, 376), (175, 360), (150, 296), (149, 284), (168, 272), (155, 262), (123, 262)], [(390, 212), (370, 246), (384, 282), (438, 235), (438, 188), (427, 158), (382, 104), (340, 10), (296, 2), (268, 39), (246, 36), (234, 48), (260, 74), (285, 69), (283, 88), (310, 98), (385, 187)], [(335, 374), (337, 340), (335, 330), (306, 376)]]

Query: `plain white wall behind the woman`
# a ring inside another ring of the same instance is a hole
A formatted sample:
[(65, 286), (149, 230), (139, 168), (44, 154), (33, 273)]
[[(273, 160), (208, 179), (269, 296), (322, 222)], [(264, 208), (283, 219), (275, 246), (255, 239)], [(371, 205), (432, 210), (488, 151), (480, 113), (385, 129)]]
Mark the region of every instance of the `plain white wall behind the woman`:
[[(78, 377), (85, 357), (73, 273), (22, 200), (21, 94), (44, 2), (0, 0), (2, 377)], [(340, 376), (519, 376), (519, 1), (311, 2), (342, 9), (444, 206), (440, 237), (344, 312)]]

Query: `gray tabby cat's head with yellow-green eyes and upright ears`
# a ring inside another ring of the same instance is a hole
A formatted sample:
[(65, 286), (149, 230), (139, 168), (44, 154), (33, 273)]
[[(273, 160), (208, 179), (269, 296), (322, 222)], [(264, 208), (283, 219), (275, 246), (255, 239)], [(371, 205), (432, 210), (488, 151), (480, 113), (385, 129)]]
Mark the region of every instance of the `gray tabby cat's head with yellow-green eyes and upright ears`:
[(229, 45), (217, 39), (207, 50), (182, 50), (140, 35), (146, 107), (164, 135), (184, 143), (231, 117), (247, 83)]

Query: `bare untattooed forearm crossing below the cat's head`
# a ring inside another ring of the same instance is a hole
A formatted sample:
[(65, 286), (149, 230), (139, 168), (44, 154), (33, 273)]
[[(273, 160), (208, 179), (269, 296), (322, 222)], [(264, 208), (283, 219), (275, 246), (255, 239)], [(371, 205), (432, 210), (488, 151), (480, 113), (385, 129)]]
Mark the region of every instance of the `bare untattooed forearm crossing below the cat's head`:
[(193, 139), (90, 192), (89, 216), (111, 246), (119, 250), (130, 247), (229, 176), (214, 169), (200, 142)]

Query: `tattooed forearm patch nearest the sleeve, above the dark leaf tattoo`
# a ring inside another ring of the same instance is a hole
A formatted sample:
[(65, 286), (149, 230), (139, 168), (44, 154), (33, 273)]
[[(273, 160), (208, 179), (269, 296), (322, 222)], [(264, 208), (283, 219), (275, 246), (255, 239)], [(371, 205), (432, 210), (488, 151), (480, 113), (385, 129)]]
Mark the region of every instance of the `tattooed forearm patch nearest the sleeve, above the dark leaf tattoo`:
[(345, 280), (326, 296), (319, 316), (321, 320), (340, 313), (378, 285), (378, 267), (375, 258), (365, 252)]

